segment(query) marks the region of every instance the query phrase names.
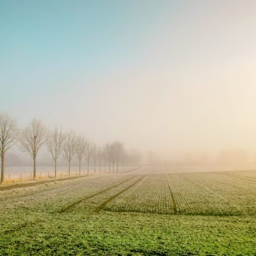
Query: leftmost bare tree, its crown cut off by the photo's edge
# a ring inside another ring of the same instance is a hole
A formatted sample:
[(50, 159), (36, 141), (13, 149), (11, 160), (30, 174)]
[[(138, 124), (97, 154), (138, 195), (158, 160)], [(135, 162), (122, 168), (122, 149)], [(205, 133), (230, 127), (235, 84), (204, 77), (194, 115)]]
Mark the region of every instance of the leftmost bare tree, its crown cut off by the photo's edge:
[(2, 161), (1, 166), (1, 181), (4, 181), (4, 165), (5, 165), (5, 153), (10, 149), (18, 139), (19, 129), (10, 115), (0, 114), (0, 156)]

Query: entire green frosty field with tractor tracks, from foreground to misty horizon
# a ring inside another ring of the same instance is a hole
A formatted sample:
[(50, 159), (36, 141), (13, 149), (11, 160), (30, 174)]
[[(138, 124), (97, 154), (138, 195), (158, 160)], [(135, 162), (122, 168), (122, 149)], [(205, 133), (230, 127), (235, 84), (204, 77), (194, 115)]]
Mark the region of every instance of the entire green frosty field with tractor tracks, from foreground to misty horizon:
[(0, 255), (256, 255), (256, 171), (142, 167), (0, 203)]

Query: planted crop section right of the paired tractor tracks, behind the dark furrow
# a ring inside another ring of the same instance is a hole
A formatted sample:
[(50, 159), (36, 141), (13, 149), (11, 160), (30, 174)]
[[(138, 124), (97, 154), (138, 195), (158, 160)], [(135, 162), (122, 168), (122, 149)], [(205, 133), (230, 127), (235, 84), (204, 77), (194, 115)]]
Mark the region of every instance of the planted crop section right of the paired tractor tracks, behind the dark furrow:
[[(248, 184), (249, 183), (249, 184)], [(161, 214), (255, 215), (254, 182), (216, 173), (151, 174), (104, 210)]]

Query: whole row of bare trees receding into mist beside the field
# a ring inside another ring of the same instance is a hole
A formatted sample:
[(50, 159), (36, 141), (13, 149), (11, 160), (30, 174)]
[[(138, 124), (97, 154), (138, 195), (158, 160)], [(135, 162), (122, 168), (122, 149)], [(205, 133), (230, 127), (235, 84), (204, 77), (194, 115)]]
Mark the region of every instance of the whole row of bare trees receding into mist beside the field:
[[(86, 138), (85, 135), (77, 135), (74, 131), (63, 132), (61, 127), (53, 130), (46, 129), (40, 120), (34, 118), (24, 128), (18, 126), (16, 120), (7, 113), (0, 113), (0, 156), (1, 156), (1, 182), (4, 181), (5, 174), (5, 153), (16, 142), (24, 152), (30, 154), (33, 159), (33, 179), (36, 179), (36, 158), (43, 146), (46, 146), (54, 161), (55, 177), (57, 176), (57, 161), (60, 155), (68, 162), (68, 174), (70, 176), (71, 161), (77, 158), (79, 161), (79, 174), (81, 174), (81, 162), (85, 159), (87, 173), (89, 165), (93, 163), (94, 172), (96, 166), (100, 168), (100, 173), (118, 172), (120, 165), (138, 165), (141, 155), (134, 150), (127, 152), (123, 142), (107, 142), (104, 146), (98, 146), (95, 142)], [(103, 170), (104, 169), (104, 170)]]

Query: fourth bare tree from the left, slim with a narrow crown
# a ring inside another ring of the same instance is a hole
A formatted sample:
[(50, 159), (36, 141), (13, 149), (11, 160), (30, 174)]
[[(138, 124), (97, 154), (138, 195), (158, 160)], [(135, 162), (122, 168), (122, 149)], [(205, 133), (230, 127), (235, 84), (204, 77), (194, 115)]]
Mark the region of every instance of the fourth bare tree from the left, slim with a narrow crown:
[(77, 146), (77, 138), (75, 133), (70, 131), (65, 133), (65, 139), (63, 141), (63, 156), (68, 161), (68, 175), (70, 176), (70, 164), (75, 154)]

